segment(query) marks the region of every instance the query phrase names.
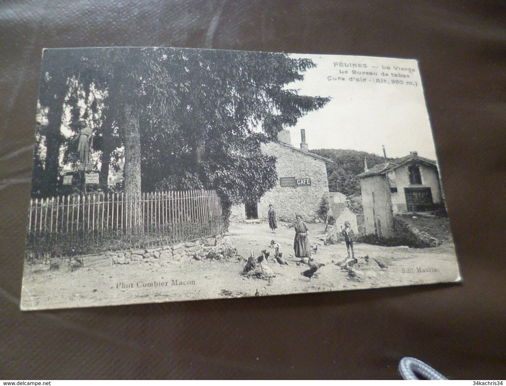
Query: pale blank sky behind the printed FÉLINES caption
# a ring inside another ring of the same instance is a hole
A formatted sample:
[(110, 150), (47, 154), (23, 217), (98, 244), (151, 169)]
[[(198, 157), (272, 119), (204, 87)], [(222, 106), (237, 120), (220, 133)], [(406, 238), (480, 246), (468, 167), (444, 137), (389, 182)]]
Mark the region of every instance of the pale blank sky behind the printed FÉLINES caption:
[[(421, 157), (436, 160), (415, 60), (342, 55), (290, 56), (311, 58), (317, 67), (304, 73), (304, 81), (289, 84), (286, 88), (299, 89), (301, 95), (332, 98), (324, 107), (308, 113), (296, 126), (288, 128), (292, 145), (299, 146), (301, 129), (305, 129), (309, 149), (353, 149), (383, 155), (382, 145), (385, 145), (387, 157), (403, 157), (410, 151), (417, 151)], [(357, 67), (352, 67), (353, 64)], [(352, 71), (366, 71), (371, 75), (353, 74)], [(409, 78), (402, 75), (409, 75)], [(350, 81), (350, 78), (354, 79)], [(357, 82), (356, 78), (365, 81)]]

